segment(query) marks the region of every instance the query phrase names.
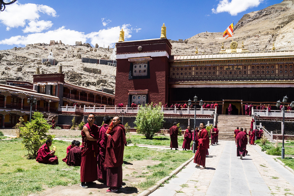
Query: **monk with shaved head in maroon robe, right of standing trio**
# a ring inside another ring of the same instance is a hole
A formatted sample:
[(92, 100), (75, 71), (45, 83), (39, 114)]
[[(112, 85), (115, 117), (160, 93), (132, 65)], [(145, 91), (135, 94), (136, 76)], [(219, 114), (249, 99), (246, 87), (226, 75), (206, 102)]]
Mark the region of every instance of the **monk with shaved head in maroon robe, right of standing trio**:
[(109, 189), (106, 192), (116, 192), (123, 183), (123, 151), (126, 142), (126, 130), (121, 124), (121, 119), (116, 116), (112, 120), (113, 129), (106, 134), (106, 155), (104, 166), (106, 167), (106, 184)]

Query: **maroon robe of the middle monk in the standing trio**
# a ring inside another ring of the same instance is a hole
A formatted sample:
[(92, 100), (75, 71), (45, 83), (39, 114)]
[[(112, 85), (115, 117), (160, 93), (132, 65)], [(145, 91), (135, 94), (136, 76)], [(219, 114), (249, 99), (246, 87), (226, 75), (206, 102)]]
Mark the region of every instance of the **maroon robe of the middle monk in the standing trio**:
[(105, 154), (106, 154), (106, 143), (107, 137), (105, 135), (107, 129), (107, 124), (103, 124), (99, 130), (99, 140), (97, 141), (99, 147), (99, 154), (97, 157), (98, 163), (98, 179), (106, 181), (106, 167), (104, 166)]

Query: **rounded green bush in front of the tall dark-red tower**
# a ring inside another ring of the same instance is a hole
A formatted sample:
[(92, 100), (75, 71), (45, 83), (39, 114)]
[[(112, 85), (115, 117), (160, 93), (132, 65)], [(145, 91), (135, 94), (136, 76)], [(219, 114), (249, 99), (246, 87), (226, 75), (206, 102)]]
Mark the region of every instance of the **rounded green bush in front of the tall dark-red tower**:
[(141, 106), (134, 122), (137, 132), (145, 135), (146, 139), (152, 139), (164, 123), (161, 103), (154, 107), (152, 105), (153, 103), (148, 106)]

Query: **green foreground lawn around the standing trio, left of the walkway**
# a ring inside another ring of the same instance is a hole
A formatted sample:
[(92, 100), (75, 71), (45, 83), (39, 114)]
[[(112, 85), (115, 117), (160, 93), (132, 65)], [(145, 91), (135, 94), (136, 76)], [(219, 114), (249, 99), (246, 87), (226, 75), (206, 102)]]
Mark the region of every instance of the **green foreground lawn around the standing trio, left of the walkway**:
[[(0, 141), (0, 195), (28, 195), (40, 192), (44, 187), (78, 184), (80, 167), (68, 167), (62, 161), (70, 144), (71, 142), (54, 140), (52, 146), (57, 148), (55, 155), (58, 156), (59, 164), (48, 165), (27, 159), (27, 151), (22, 148), (21, 140)], [(132, 184), (140, 189), (147, 189), (192, 156), (192, 151), (158, 150), (134, 145), (125, 148), (124, 163), (127, 166), (136, 160), (161, 161), (158, 165), (147, 165), (145, 173), (138, 174), (146, 178), (144, 182)]]

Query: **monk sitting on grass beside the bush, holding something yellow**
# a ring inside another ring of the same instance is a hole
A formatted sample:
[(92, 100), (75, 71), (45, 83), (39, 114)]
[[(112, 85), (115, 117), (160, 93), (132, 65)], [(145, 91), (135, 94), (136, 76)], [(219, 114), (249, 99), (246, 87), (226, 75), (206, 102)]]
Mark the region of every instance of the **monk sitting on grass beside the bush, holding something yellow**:
[(49, 149), (52, 145), (52, 140), (46, 140), (45, 144), (41, 146), (41, 148), (37, 152), (36, 161), (39, 163), (49, 163), (49, 164), (57, 164), (58, 158), (54, 155), (55, 150)]

